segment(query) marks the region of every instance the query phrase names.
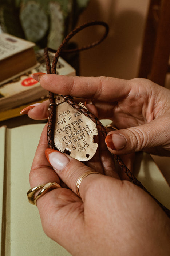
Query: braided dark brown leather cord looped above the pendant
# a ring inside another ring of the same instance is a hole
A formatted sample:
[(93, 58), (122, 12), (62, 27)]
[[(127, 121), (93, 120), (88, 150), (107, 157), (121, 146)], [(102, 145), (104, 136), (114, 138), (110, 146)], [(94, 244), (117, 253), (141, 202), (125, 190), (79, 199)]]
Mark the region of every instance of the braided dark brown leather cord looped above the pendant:
[[(89, 26), (94, 26), (94, 25), (101, 25), (105, 27), (105, 33), (103, 35), (103, 37), (92, 43), (89, 44), (87, 46), (83, 46), (81, 48), (76, 48), (76, 49), (71, 49), (71, 50), (64, 50), (64, 47), (66, 46), (66, 44), (68, 43), (68, 41), (75, 35), (77, 34), (79, 31), (85, 29), (86, 27)], [(62, 52), (79, 52), (82, 50), (86, 50), (86, 49), (90, 49), (96, 45), (98, 45), (100, 42), (102, 42), (104, 40), (104, 38), (106, 38), (108, 34), (108, 25), (105, 22), (102, 21), (94, 21), (94, 22), (89, 22), (89, 23), (85, 23), (84, 25), (74, 29), (73, 31), (70, 32), (70, 34), (67, 35), (67, 37), (63, 40), (62, 44), (59, 46), (58, 50), (55, 53), (54, 59), (52, 61), (52, 67), (50, 64), (50, 58), (48, 55), (48, 51), (52, 51), (54, 52), (54, 50), (50, 49), (50, 48), (45, 48), (44, 49), (44, 56), (46, 59), (46, 67), (47, 67), (47, 73), (48, 74), (56, 74), (56, 64), (58, 62), (59, 56), (61, 55)], [(99, 119), (97, 117), (94, 116), (94, 114), (90, 113), (87, 109), (84, 109), (82, 106), (79, 106), (78, 104), (76, 104), (73, 101), (73, 98), (70, 96), (65, 96), (64, 97), (65, 101), (70, 104), (73, 108), (75, 108), (76, 110), (78, 110), (79, 112), (83, 113), (85, 116), (89, 117), (97, 126), (97, 128), (99, 129), (99, 131), (102, 133), (103, 137), (106, 138), (107, 136), (107, 131), (106, 128), (102, 125), (102, 123), (99, 121)], [(48, 126), (47, 126), (47, 140), (48, 140), (48, 144), (50, 148), (56, 149), (54, 145), (54, 123), (55, 123), (55, 110), (56, 110), (56, 104), (55, 104), (55, 98), (54, 98), (54, 94), (52, 92), (49, 92), (49, 101), (50, 101), (50, 105), (49, 105), (49, 117), (48, 117)], [(129, 177), (130, 181), (137, 185), (138, 187), (142, 188), (144, 191), (146, 191), (151, 197), (153, 197), (153, 199), (162, 207), (162, 209), (166, 212), (166, 214), (170, 217), (170, 211), (163, 206), (157, 199), (155, 199), (154, 196), (152, 196), (150, 194), (149, 191), (147, 191), (147, 189), (141, 184), (140, 181), (137, 180), (137, 178), (135, 178), (135, 176), (130, 172), (130, 170), (126, 167), (126, 165), (123, 163), (122, 159), (118, 156), (118, 155), (113, 155), (114, 159), (118, 162), (120, 168), (123, 170), (124, 173), (126, 173), (127, 177)]]

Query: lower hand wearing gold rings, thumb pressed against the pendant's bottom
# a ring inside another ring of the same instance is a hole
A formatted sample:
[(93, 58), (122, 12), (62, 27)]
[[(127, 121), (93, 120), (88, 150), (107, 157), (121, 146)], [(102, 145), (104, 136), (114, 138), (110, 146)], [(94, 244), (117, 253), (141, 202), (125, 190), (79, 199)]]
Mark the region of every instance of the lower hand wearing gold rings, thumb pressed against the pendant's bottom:
[(92, 169), (47, 148), (46, 125), (31, 168), (31, 187), (61, 179), (70, 188), (54, 189), (37, 200), (47, 236), (78, 256), (169, 255), (170, 220), (146, 192), (114, 172), (112, 177), (90, 174), (80, 184), (81, 199), (76, 181)]

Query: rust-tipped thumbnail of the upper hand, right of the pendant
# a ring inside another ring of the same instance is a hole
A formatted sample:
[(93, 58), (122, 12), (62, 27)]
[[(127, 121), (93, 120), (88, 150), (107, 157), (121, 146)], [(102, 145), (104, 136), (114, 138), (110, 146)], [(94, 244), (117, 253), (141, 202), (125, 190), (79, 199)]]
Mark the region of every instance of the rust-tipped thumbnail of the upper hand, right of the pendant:
[(113, 150), (120, 150), (126, 146), (126, 139), (118, 133), (109, 134), (105, 139), (106, 145)]

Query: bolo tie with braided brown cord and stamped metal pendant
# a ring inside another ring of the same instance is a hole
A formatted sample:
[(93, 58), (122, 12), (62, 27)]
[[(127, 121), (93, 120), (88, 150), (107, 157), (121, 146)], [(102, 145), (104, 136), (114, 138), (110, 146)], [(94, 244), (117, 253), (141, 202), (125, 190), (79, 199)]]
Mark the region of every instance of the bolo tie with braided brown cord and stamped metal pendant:
[[(105, 29), (103, 36), (98, 41), (92, 42), (81, 48), (66, 49), (68, 41), (70, 41), (75, 34), (87, 27), (96, 25), (102, 26)], [(71, 53), (90, 49), (100, 44), (107, 37), (108, 31), (109, 27), (107, 23), (103, 21), (88, 22), (72, 30), (66, 38), (64, 38), (57, 51), (46, 47), (44, 49), (44, 57), (46, 60), (47, 74), (56, 74), (56, 65), (63, 52)], [(52, 64), (50, 63), (49, 51), (55, 52)], [(79, 161), (90, 160), (98, 147), (98, 144), (94, 142), (94, 138), (98, 135), (98, 131), (102, 133), (104, 138), (107, 136), (106, 128), (100, 120), (94, 116), (94, 114), (89, 112), (83, 103), (74, 102), (74, 99), (69, 95), (54, 95), (51, 91), (49, 91), (48, 110), (47, 141), (49, 147), (66, 153)], [(166, 212), (168, 217), (170, 217), (170, 210), (163, 206), (163, 204), (147, 191), (142, 183), (138, 181), (133, 173), (127, 168), (119, 155), (113, 154), (113, 157), (129, 180), (153, 197), (159, 206)]]

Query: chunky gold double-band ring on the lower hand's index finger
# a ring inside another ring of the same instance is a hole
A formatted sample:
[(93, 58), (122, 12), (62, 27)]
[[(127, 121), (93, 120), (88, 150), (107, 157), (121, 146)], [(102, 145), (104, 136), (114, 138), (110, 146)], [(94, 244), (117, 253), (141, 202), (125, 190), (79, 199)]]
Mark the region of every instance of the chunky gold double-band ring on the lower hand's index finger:
[[(29, 191), (27, 192), (29, 203), (36, 205), (36, 201), (37, 199), (39, 199), (39, 197), (45, 195), (48, 191), (51, 191), (52, 189), (55, 189), (55, 188), (61, 188), (61, 186), (56, 182), (48, 182), (47, 184), (39, 185), (37, 187), (29, 189)], [(39, 191), (39, 193), (35, 197), (35, 194), (37, 193), (37, 191)]]

